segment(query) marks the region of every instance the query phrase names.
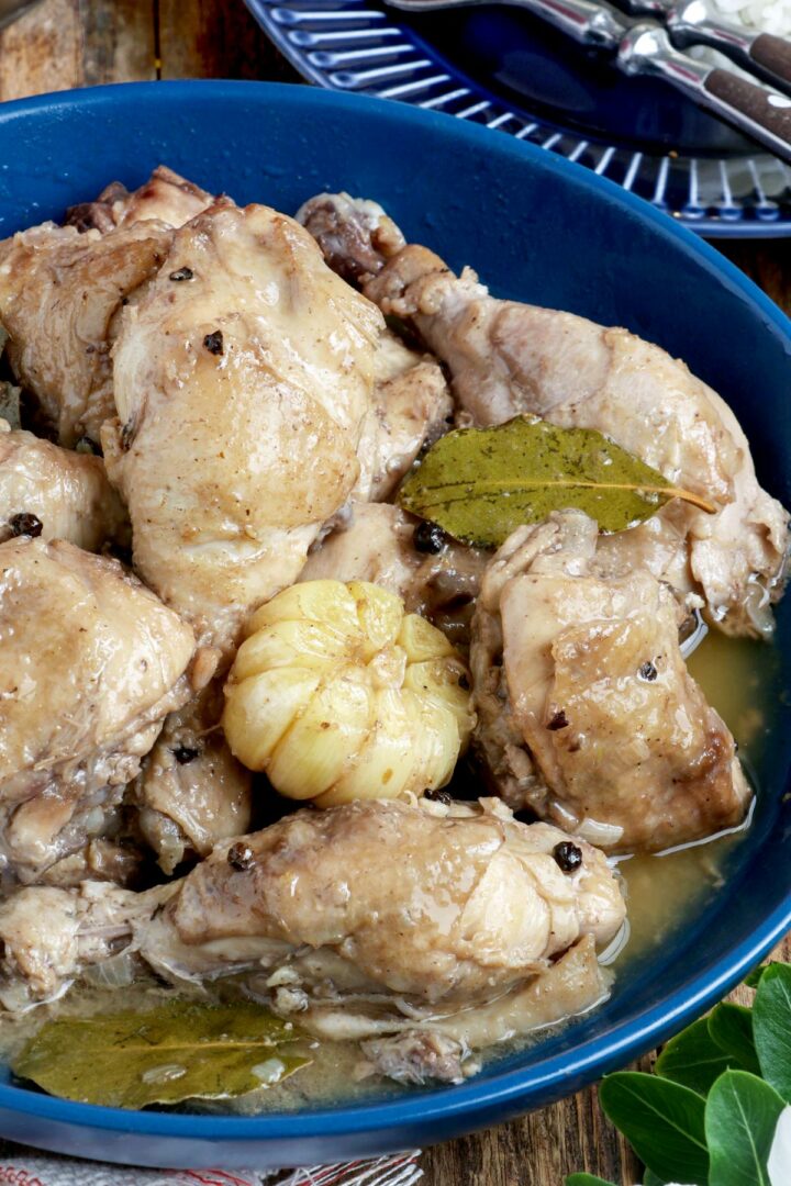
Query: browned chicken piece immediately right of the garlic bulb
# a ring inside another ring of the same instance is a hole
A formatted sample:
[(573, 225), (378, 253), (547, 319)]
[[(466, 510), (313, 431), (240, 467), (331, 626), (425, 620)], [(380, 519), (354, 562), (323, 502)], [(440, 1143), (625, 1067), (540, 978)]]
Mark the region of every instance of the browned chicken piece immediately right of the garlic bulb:
[(519, 528), (484, 576), (471, 668), (478, 742), (512, 806), (611, 852), (741, 822), (731, 733), (688, 674), (678, 608), (646, 572), (602, 579), (597, 524)]

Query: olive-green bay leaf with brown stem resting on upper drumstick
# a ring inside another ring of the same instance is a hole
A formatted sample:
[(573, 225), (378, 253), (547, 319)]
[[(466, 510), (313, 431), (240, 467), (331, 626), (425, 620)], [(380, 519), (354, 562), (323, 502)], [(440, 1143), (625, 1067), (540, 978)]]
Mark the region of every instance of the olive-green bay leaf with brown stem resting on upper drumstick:
[(623, 531), (671, 498), (716, 508), (592, 428), (517, 416), (441, 436), (402, 483), (397, 502), (463, 543), (498, 548), (523, 523), (576, 508), (602, 531)]

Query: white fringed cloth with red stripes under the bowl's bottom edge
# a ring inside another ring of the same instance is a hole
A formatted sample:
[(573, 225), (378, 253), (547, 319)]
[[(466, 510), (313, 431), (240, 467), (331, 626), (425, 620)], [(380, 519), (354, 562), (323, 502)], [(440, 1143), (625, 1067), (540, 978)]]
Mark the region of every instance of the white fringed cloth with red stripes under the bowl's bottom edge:
[(420, 1149), (307, 1169), (128, 1169), (75, 1158), (0, 1148), (1, 1186), (413, 1186)]

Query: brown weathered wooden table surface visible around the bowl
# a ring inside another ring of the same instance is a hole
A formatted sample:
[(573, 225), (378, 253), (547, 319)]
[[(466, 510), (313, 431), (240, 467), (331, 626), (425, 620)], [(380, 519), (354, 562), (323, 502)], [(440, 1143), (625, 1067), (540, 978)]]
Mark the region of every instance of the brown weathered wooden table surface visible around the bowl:
[[(0, 32), (0, 100), (190, 77), (299, 81), (242, 0), (43, 0)], [(734, 243), (727, 254), (791, 311), (791, 240)], [(791, 939), (774, 956), (791, 959)], [(560, 1186), (575, 1169), (619, 1186), (640, 1180), (639, 1163), (601, 1114), (595, 1089), (427, 1149), (421, 1165), (427, 1186)]]

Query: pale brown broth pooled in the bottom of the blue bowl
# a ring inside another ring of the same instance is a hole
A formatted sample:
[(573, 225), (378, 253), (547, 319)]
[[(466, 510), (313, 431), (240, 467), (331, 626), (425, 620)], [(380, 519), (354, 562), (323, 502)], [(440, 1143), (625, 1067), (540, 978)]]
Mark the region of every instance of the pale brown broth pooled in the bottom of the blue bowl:
[[(776, 703), (778, 657), (772, 646), (746, 639), (729, 639), (709, 632), (689, 659), (689, 669), (702, 686), (709, 702), (732, 729), (746, 759), (748, 774), (771, 728), (772, 706)], [(760, 789), (759, 789), (760, 791)], [(614, 991), (618, 991), (618, 971), (630, 959), (645, 955), (661, 945), (683, 920), (694, 916), (721, 887), (722, 863), (727, 853), (738, 844), (744, 829), (703, 844), (657, 856), (626, 857), (618, 862), (626, 882), (629, 901), (629, 939), (615, 957)], [(172, 995), (172, 990), (140, 983), (123, 989), (123, 1009), (151, 1008)], [(36, 1009), (18, 1020), (0, 1018), (0, 1060), (13, 1058), (47, 1018), (85, 1016), (119, 1008), (119, 994), (96, 988), (78, 988), (62, 1001)], [(554, 1027), (556, 1028), (556, 1027)], [(544, 1031), (546, 1034), (546, 1031)], [(524, 1048), (541, 1040), (521, 1039)], [(500, 1058), (511, 1053), (513, 1042), (504, 1044), (489, 1053)], [(352, 1102), (366, 1097), (400, 1093), (391, 1082), (356, 1077), (361, 1063), (359, 1051), (351, 1042), (312, 1042), (307, 1050), (313, 1064), (298, 1071), (283, 1083), (262, 1089), (237, 1101), (200, 1102), (202, 1109), (254, 1115), (261, 1111), (298, 1110), (323, 1102)]]

